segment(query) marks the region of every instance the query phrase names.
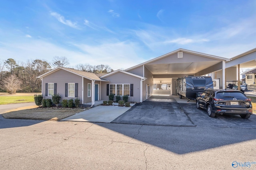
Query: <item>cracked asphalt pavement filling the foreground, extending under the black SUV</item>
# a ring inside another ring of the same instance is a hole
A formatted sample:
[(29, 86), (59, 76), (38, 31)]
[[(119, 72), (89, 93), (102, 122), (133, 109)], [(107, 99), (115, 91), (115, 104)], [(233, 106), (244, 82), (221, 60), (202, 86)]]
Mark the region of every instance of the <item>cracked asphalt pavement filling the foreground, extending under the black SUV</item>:
[(195, 126), (35, 121), (0, 115), (0, 169), (215, 170), (234, 169), (234, 161), (256, 162), (256, 115), (248, 120), (213, 119), (204, 110), (195, 112), (194, 105), (180, 107)]

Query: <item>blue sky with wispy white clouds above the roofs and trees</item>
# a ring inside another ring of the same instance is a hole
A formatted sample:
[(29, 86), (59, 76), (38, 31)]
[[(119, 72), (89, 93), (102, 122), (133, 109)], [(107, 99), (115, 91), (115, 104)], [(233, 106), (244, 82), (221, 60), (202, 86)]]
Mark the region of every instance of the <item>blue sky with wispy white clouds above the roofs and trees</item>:
[(1, 0), (0, 60), (67, 57), (129, 68), (179, 48), (256, 47), (256, 0)]

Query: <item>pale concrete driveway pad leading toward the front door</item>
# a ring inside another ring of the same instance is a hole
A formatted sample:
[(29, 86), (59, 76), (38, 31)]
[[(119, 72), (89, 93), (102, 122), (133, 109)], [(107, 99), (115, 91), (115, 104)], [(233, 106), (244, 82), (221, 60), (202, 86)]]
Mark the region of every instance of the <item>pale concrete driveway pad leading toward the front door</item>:
[(88, 121), (110, 123), (116, 117), (122, 115), (131, 107), (119, 106), (97, 106), (86, 111), (82, 111), (60, 121)]

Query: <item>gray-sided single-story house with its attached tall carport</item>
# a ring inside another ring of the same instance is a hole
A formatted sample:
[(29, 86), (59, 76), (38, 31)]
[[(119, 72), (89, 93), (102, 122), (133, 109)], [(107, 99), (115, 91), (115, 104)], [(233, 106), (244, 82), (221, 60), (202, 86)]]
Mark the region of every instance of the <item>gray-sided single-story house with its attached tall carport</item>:
[(108, 74), (57, 67), (38, 78), (42, 80), (43, 98), (51, 98), (58, 93), (62, 100), (79, 97), (82, 104), (94, 105), (95, 101), (108, 100), (109, 94), (114, 94), (128, 95), (130, 102), (143, 102), (153, 94), (176, 95), (175, 80), (188, 75), (220, 78), (220, 88), (226, 87), (226, 80), (237, 77), (239, 59), (243, 58), (246, 62), (240, 61), (244, 66), (251, 66), (250, 61), (255, 56), (256, 48), (234, 59), (177, 49), (126, 70)]

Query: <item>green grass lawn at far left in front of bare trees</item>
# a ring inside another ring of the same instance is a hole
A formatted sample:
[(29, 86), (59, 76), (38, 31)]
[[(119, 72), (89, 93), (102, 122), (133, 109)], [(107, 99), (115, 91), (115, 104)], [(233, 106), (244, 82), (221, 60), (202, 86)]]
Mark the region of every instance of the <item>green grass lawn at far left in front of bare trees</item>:
[(0, 96), (0, 104), (34, 102), (34, 96)]

